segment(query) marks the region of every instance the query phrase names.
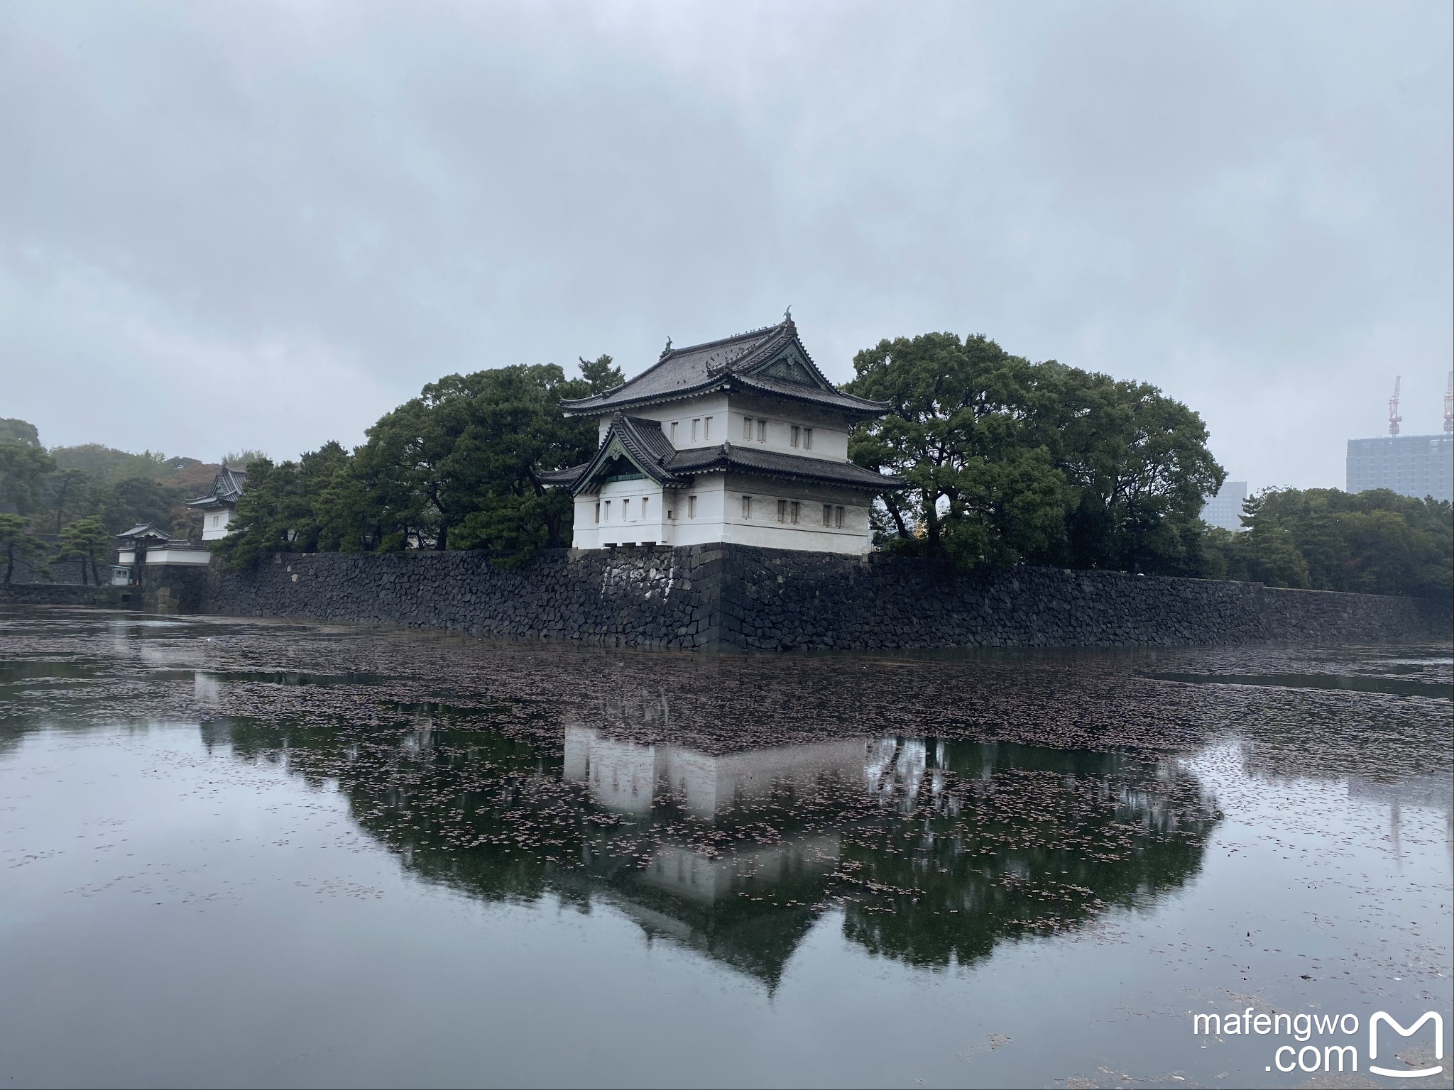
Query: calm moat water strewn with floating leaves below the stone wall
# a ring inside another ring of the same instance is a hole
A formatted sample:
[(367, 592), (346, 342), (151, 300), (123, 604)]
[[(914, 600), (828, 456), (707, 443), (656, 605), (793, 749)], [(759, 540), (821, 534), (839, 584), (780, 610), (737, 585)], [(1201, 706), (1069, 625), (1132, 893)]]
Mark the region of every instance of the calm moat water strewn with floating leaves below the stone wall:
[(1450, 1086), (1451, 693), (0, 612), (0, 1086)]

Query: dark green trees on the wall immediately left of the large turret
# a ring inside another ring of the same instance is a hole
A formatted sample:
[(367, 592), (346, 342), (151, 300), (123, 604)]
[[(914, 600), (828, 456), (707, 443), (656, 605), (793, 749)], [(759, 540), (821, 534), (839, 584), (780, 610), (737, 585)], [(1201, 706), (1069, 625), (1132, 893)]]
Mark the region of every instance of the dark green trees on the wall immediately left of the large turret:
[(240, 530), (218, 542), (234, 568), (275, 552), (490, 549), (519, 562), (570, 544), (571, 498), (545, 490), (537, 469), (586, 461), (593, 421), (569, 420), (561, 398), (622, 382), (611, 356), (516, 365), (430, 382), (348, 451), (339, 443), (247, 467)]

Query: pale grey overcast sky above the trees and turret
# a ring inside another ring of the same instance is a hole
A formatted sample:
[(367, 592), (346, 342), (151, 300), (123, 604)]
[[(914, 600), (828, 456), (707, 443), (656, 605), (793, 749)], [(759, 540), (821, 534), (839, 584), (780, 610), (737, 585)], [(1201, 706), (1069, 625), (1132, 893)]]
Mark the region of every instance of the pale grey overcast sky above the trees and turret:
[(1448, 0), (0, 7), (0, 417), (208, 461), (441, 375), (984, 333), (1232, 478), (1441, 430)]

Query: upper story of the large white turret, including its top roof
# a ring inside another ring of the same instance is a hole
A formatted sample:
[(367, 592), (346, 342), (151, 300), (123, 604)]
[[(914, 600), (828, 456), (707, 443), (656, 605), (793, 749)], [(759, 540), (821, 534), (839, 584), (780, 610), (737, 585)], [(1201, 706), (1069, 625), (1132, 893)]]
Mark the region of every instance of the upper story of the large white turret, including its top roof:
[(846, 462), (849, 427), (883, 416), (888, 404), (835, 389), (785, 318), (705, 344), (669, 343), (635, 378), (605, 394), (563, 401), (561, 408), (599, 417), (601, 442), (611, 419), (628, 413), (660, 421), (678, 451), (730, 443)]

